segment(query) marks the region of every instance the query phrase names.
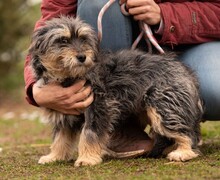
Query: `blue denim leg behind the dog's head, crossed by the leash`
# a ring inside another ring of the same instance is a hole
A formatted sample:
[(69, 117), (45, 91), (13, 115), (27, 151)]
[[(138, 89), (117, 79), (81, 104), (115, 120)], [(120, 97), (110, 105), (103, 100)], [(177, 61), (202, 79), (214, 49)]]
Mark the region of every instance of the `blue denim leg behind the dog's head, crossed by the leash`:
[[(97, 31), (97, 19), (101, 8), (108, 0), (79, 0), (77, 16), (89, 23)], [(119, 50), (132, 45), (132, 24), (130, 17), (120, 11), (118, 1), (113, 3), (103, 15), (102, 49)]]

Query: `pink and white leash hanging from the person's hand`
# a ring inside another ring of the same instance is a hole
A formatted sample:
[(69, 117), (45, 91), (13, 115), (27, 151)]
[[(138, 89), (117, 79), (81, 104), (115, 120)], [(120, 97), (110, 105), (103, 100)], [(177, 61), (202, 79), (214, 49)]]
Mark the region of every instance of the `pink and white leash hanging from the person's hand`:
[[(98, 15), (98, 20), (97, 20), (97, 25), (98, 25), (98, 38), (99, 41), (102, 40), (102, 17), (104, 15), (104, 13), (107, 11), (107, 9), (115, 2), (116, 0), (109, 0), (104, 6), (103, 8), (100, 10), (99, 15)], [(121, 12), (126, 15), (129, 16), (130, 14), (126, 11), (125, 9), (125, 4), (121, 5)], [(138, 43), (140, 42), (140, 40), (144, 37), (147, 46), (148, 46), (148, 51), (150, 53), (152, 53), (152, 45), (154, 45), (154, 47), (161, 53), (164, 54), (164, 50), (160, 47), (160, 45), (157, 43), (157, 40), (154, 38), (153, 33), (151, 31), (151, 28), (144, 22), (140, 21), (139, 22), (139, 26), (140, 26), (140, 30), (141, 33), (139, 34), (139, 36), (137, 37), (137, 39), (134, 41), (134, 43), (132, 44), (132, 49), (135, 49), (138, 45)]]

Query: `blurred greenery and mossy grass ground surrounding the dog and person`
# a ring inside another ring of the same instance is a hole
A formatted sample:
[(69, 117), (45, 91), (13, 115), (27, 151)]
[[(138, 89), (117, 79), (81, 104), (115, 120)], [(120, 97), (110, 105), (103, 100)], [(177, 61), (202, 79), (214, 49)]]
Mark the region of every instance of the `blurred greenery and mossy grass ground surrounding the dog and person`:
[(23, 69), (30, 37), (40, 18), (40, 2), (0, 0), (1, 180), (220, 179), (220, 121), (202, 124), (204, 156), (184, 165), (165, 159), (131, 159), (108, 161), (95, 169), (76, 170), (73, 162), (39, 166), (39, 157), (49, 152), (51, 128), (42, 123), (39, 108), (25, 100)]

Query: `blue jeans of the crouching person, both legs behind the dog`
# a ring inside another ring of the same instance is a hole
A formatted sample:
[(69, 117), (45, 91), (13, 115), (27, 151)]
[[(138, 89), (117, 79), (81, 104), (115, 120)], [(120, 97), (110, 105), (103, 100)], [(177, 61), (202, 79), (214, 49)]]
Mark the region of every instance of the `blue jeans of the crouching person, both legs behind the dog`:
[[(97, 17), (108, 0), (78, 0), (77, 15), (97, 31)], [(135, 23), (121, 14), (114, 3), (104, 14), (101, 48), (113, 51), (130, 48), (133, 42)], [(205, 102), (206, 120), (220, 120), (220, 41), (188, 46), (179, 59), (197, 74), (201, 95)]]

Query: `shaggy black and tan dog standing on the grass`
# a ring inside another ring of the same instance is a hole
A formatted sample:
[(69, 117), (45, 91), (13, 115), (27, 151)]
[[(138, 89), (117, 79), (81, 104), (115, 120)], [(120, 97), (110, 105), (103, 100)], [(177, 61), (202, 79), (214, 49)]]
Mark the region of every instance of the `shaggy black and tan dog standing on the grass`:
[(69, 160), (74, 148), (75, 166), (101, 163), (110, 152), (112, 133), (120, 131), (130, 116), (143, 130), (150, 124), (155, 148), (164, 138), (172, 142), (164, 150), (170, 161), (199, 155), (204, 111), (199, 83), (195, 73), (172, 55), (102, 52), (90, 25), (65, 16), (34, 32), (29, 54), (38, 86), (56, 82), (67, 87), (86, 79), (94, 93), (93, 103), (80, 116), (45, 108), (54, 138), (50, 154), (42, 156), (40, 164)]

